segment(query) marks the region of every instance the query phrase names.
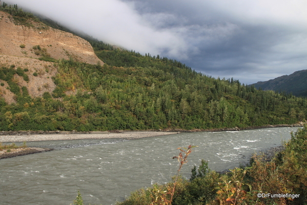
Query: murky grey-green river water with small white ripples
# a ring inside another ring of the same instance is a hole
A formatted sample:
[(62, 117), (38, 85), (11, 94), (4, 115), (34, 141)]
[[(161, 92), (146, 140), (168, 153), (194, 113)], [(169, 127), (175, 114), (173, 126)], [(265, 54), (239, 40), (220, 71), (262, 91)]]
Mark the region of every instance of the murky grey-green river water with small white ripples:
[(136, 140), (95, 139), (28, 142), (52, 152), (0, 160), (1, 204), (73, 203), (79, 190), (84, 203), (115, 204), (131, 191), (166, 183), (176, 174), (178, 147), (197, 145), (183, 165), (190, 178), (201, 159), (224, 171), (249, 162), (250, 156), (291, 138), (296, 127), (238, 132), (182, 133)]

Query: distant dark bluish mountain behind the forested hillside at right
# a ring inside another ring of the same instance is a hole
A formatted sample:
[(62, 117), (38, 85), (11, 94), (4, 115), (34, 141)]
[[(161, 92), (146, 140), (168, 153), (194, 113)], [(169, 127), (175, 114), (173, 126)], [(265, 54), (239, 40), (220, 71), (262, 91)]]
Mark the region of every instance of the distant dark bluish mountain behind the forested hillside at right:
[(273, 80), (257, 82), (252, 84), (257, 89), (262, 90), (285, 91), (294, 96), (307, 97), (307, 70), (299, 70), (292, 74), (281, 76)]

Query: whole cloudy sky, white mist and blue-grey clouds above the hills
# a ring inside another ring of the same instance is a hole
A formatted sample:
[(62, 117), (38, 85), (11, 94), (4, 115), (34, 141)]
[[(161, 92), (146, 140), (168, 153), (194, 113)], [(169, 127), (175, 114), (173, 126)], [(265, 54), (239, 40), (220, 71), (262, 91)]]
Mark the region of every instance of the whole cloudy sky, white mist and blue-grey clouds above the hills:
[[(2, 1), (3, 2), (3, 1)], [(94, 38), (244, 84), (307, 69), (305, 0), (10, 0)]]

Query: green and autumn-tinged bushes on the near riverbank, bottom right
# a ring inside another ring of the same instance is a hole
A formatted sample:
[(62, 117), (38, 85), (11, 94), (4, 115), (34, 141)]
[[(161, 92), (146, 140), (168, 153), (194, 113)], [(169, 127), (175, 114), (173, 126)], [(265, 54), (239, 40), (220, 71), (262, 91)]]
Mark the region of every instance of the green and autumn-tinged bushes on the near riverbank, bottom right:
[[(172, 203), (167, 203), (165, 198), (170, 199), (168, 192), (174, 187), (174, 181), (132, 192), (117, 205), (307, 204), (307, 126), (292, 134), (285, 146), (272, 161), (254, 156), (250, 166), (235, 168), (227, 174), (211, 171), (202, 160), (197, 171), (195, 166), (192, 169), (190, 180), (181, 177), (176, 181)], [(257, 194), (288, 194), (289, 197), (257, 197)]]

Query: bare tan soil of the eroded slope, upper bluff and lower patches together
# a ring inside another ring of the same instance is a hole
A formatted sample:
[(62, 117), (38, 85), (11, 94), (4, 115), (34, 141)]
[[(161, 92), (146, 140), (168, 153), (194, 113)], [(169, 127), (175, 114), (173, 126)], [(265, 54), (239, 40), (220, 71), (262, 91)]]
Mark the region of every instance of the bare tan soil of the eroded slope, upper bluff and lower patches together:
[[(28, 82), (17, 74), (13, 81), (20, 87), (26, 86), (31, 97), (42, 97), (44, 92), (52, 92), (56, 86), (51, 77), (57, 74), (54, 63), (38, 60), (42, 52), (39, 53), (33, 46), (39, 45), (40, 50), (56, 60), (73, 58), (89, 64), (104, 64), (97, 58), (89, 42), (72, 33), (37, 22), (32, 22), (32, 27), (18, 25), (11, 15), (2, 11), (0, 17), (0, 66), (15, 65), (15, 69), (28, 69)], [(37, 76), (33, 76), (34, 72)], [(0, 80), (0, 83), (4, 83), (0, 86), (0, 96), (7, 103), (15, 102), (14, 94), (7, 89), (7, 82)]]

